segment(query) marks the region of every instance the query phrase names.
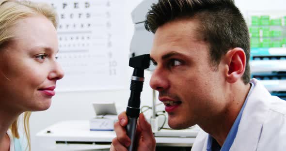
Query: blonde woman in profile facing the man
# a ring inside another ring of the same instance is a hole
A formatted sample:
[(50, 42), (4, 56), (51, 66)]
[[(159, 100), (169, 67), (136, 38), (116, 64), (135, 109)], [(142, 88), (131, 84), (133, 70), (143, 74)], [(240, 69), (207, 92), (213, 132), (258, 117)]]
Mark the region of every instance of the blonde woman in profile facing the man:
[[(49, 108), (56, 81), (64, 76), (56, 61), (56, 16), (48, 4), (0, 0), (1, 151), (31, 150), (30, 111)], [(27, 147), (17, 130), (22, 113)]]

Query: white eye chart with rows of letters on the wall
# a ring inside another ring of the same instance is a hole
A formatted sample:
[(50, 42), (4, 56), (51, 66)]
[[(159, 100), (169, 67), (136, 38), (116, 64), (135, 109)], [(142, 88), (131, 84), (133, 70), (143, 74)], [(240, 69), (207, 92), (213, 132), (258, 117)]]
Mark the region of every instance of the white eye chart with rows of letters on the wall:
[[(122, 89), (128, 59), (122, 0), (34, 0), (58, 13), (58, 91)], [(125, 51), (125, 53), (122, 53)]]

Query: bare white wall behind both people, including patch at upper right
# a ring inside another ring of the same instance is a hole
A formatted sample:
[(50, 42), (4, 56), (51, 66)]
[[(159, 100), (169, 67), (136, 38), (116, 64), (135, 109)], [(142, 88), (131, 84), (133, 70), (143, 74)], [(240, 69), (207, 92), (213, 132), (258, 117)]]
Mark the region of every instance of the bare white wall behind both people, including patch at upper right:
[[(125, 10), (130, 14), (132, 9), (141, 0), (126, 0), (129, 4)], [(247, 10), (285, 10), (286, 0), (236, 0), (237, 6), (243, 14)], [(128, 30), (133, 30), (133, 24), (130, 15), (125, 18), (130, 26)], [(127, 43), (130, 42), (132, 35), (127, 35)], [(122, 50), (128, 55), (128, 50)], [(115, 101), (119, 112), (124, 111), (129, 98), (129, 78), (132, 74), (132, 69), (126, 65), (126, 86), (124, 90), (118, 91), (85, 91), (85, 92), (61, 92), (53, 97), (52, 105), (47, 111), (34, 112), (30, 120), (31, 136), (32, 136), (32, 151), (40, 151), (35, 143), (35, 135), (38, 131), (64, 120), (89, 120), (94, 117), (94, 111), (91, 103), (94, 101)], [(142, 106), (151, 106), (152, 91), (149, 87), (150, 73), (145, 74), (145, 83), (142, 92)], [(160, 106), (162, 108), (162, 106)]]

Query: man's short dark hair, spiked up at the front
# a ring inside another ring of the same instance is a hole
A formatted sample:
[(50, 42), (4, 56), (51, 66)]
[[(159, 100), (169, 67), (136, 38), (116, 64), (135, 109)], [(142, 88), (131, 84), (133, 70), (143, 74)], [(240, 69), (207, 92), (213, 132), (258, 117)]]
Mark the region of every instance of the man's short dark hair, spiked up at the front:
[(194, 18), (200, 22), (198, 38), (209, 47), (210, 63), (217, 67), (223, 55), (235, 47), (246, 54), (242, 76), (250, 81), (250, 40), (246, 22), (233, 0), (159, 0), (146, 15), (145, 28), (153, 33), (167, 22)]

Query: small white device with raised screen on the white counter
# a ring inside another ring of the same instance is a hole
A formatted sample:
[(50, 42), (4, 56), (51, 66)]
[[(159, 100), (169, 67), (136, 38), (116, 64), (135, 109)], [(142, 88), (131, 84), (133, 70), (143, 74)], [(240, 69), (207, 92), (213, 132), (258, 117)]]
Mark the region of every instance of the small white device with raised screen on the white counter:
[(117, 121), (117, 111), (114, 102), (94, 102), (95, 118), (90, 120), (91, 131), (113, 131)]

